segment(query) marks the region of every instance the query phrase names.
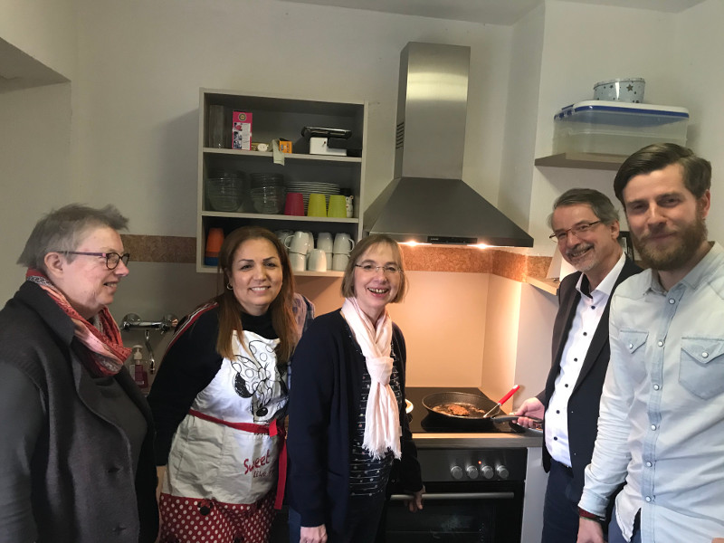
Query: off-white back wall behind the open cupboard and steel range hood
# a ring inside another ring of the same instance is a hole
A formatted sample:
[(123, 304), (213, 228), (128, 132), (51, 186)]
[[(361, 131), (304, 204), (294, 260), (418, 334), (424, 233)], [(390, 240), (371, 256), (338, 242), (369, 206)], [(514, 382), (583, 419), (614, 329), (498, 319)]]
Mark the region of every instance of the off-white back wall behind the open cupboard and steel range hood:
[[(472, 47), (465, 170), (495, 199), (510, 29), (273, 0), (79, 0), (77, 175), (133, 233), (195, 234), (199, 87), (368, 100), (367, 197), (392, 178), (399, 53)], [(495, 81), (491, 85), (491, 81)]]

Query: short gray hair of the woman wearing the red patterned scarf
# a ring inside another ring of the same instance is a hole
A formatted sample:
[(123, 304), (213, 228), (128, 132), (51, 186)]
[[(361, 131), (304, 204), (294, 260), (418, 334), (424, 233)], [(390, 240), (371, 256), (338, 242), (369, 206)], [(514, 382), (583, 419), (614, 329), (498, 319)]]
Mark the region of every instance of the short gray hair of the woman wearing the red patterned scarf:
[[(129, 219), (120, 214), (115, 205), (102, 209), (81, 204), (64, 205), (54, 209), (35, 224), (17, 263), (43, 272), (45, 255), (53, 251), (74, 251), (81, 238), (91, 228), (108, 226), (113, 230), (125, 230)], [(73, 255), (68, 255), (72, 261)]]

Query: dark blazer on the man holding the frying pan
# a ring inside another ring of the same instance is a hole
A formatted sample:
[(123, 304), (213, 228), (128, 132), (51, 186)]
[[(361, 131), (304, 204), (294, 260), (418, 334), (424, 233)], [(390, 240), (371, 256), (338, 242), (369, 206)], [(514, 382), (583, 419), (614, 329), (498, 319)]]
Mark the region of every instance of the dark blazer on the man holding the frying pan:
[[(614, 283), (616, 287), (625, 279), (640, 272), (636, 264), (628, 258), (624, 262), (624, 268), (619, 273)], [(553, 395), (556, 378), (560, 371), (560, 357), (563, 348), (566, 347), (568, 331), (571, 329), (573, 318), (576, 315), (576, 306), (581, 299), (581, 294), (576, 290), (576, 284), (581, 277), (581, 272), (571, 273), (560, 283), (558, 289), (558, 312), (553, 325), (553, 363), (548, 373), (546, 389), (543, 397), (538, 396), (546, 409), (548, 402)], [(614, 291), (611, 292), (612, 296)], [(573, 491), (578, 500), (583, 491), (584, 469), (591, 462), (594, 452), (595, 434), (598, 425), (598, 404), (601, 399), (601, 391), (604, 386), (605, 371), (608, 367), (608, 359), (611, 350), (608, 345), (608, 313), (611, 310), (611, 298), (605, 305), (603, 315), (595, 329), (591, 345), (586, 352), (586, 358), (581, 367), (581, 373), (573, 388), (573, 393), (568, 400), (568, 444), (571, 452), (571, 467), (573, 468)], [(543, 467), (546, 472), (550, 470), (550, 454), (548, 448), (543, 447)]]

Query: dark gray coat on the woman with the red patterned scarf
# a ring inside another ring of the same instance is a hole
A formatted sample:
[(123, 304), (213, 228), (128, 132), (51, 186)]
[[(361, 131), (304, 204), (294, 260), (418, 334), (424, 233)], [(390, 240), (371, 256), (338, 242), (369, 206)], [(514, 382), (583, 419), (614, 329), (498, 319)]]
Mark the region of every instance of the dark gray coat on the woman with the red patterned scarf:
[[(26, 398), (33, 407), (27, 412), (43, 414), (40, 432), (29, 436), (30, 456), (0, 459), (5, 469), (14, 470), (11, 488), (18, 492), (3, 498), (17, 510), (32, 510), (37, 539), (29, 533), (23, 543), (154, 541), (158, 510), (150, 409), (123, 368), (116, 381), (148, 424), (134, 479), (129, 439), (112, 422), (98, 386), (75, 355), (76, 342), (71, 319), (34, 283), (25, 282), (0, 311), (0, 364), (32, 383), (36, 395)], [(4, 417), (9, 422), (23, 415)]]

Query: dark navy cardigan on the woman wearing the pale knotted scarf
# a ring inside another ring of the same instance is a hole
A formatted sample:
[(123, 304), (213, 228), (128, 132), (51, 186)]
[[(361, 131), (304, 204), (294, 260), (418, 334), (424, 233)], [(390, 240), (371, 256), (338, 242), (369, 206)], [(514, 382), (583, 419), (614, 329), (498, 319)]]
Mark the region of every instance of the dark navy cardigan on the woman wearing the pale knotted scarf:
[[(405, 338), (393, 324), (395, 367), (405, 393)], [(301, 526), (344, 529), (349, 501), (351, 433), (361, 396), (365, 357), (339, 310), (315, 319), (291, 359), (287, 482)], [(403, 402), (404, 405), (404, 402)], [(407, 491), (423, 488), (405, 407), (400, 478)]]

